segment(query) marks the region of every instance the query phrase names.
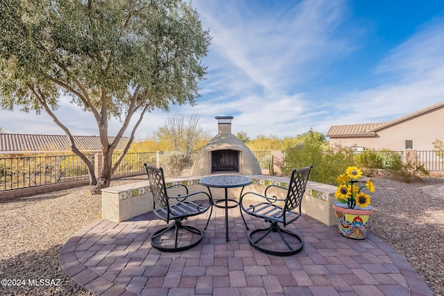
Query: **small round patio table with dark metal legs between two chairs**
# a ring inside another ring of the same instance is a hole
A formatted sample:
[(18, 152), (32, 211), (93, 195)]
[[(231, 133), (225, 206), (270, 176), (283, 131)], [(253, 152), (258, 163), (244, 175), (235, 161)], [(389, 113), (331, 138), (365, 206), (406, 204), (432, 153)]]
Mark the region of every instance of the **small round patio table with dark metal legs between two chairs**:
[[(211, 197), (212, 197), (212, 193), (211, 193), (210, 187), (225, 189), (225, 198), (218, 199), (218, 200), (214, 200), (212, 198), (212, 203), (213, 203), (214, 207), (219, 207), (221, 209), (225, 209), (225, 238), (226, 238), (226, 241), (229, 241), (229, 238), (228, 238), (228, 209), (239, 207), (239, 201), (228, 198), (228, 189), (242, 187), (242, 190), (241, 190), (241, 195), (242, 195), (242, 191), (244, 191), (244, 187), (247, 185), (250, 185), (252, 183), (251, 179), (249, 177), (246, 177), (243, 175), (213, 175), (213, 176), (209, 176), (209, 177), (203, 177), (202, 179), (200, 179), (199, 182), (201, 185), (207, 186)], [(231, 202), (232, 204), (228, 205), (228, 202)], [(207, 229), (207, 227), (208, 227), (208, 223), (210, 222), (210, 218), (211, 217), (208, 218), (207, 226), (205, 226), (205, 229)], [(242, 216), (242, 219), (244, 219), (244, 216)], [(245, 222), (245, 219), (244, 219), (244, 223), (245, 223), (245, 227), (247, 227), (247, 223)], [(248, 227), (247, 227), (247, 229), (248, 229)]]

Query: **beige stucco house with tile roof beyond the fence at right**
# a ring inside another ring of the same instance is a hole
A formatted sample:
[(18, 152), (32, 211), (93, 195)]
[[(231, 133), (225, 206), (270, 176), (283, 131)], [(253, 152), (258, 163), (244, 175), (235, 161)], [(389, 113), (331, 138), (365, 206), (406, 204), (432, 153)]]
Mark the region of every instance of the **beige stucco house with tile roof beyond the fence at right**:
[(332, 148), (433, 150), (444, 141), (444, 101), (387, 123), (333, 125), (326, 137)]

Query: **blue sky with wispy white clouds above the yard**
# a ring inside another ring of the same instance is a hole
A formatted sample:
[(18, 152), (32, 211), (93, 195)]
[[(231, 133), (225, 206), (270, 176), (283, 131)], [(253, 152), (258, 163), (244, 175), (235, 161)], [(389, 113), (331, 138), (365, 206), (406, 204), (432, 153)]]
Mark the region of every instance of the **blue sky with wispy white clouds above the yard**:
[[(232, 133), (296, 137), (310, 128), (379, 123), (444, 101), (444, 1), (193, 0), (212, 45), (194, 107), (152, 112), (136, 132), (153, 134), (167, 116), (216, 134), (215, 116), (234, 116)], [(78, 135), (98, 134), (92, 116), (63, 101), (57, 112)], [(0, 110), (7, 132), (63, 134), (42, 113)], [(110, 135), (119, 121), (110, 122)], [(126, 135), (130, 134), (130, 130)]]

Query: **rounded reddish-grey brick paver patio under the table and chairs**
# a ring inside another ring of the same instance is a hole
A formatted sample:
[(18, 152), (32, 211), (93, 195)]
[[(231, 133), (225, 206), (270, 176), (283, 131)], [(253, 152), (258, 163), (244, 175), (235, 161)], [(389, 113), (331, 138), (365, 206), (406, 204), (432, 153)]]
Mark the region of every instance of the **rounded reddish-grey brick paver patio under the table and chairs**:
[[(184, 223), (203, 229), (206, 218)], [(245, 218), (250, 229), (263, 224)], [(214, 207), (202, 243), (166, 253), (151, 247), (151, 234), (165, 225), (152, 212), (122, 223), (96, 220), (62, 247), (60, 266), (96, 295), (432, 295), (404, 257), (371, 233), (355, 241), (302, 216), (287, 228), (300, 234), (304, 250), (279, 257), (250, 246), (239, 209), (230, 210), (229, 223), (226, 242), (223, 209)]]

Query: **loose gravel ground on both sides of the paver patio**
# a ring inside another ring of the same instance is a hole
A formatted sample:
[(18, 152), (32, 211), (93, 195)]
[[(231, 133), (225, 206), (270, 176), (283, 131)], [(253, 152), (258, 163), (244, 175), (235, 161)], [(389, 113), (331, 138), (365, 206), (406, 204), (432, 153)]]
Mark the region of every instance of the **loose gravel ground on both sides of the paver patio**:
[[(142, 180), (146, 177), (113, 181), (112, 186)], [(434, 295), (444, 295), (444, 179), (374, 182), (370, 232), (407, 258)], [(441, 198), (422, 193), (421, 187), (431, 184)], [(24, 286), (0, 286), (0, 295), (92, 295), (60, 270), (58, 254), (74, 233), (101, 218), (100, 195), (89, 195), (84, 186), (0, 200), (0, 213), (0, 279), (26, 281)], [(52, 286), (28, 283), (41, 279), (53, 280), (48, 282)]]

